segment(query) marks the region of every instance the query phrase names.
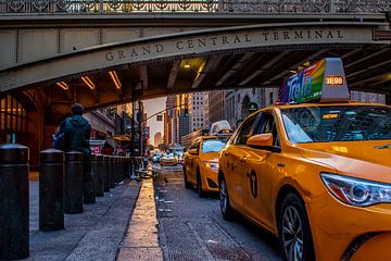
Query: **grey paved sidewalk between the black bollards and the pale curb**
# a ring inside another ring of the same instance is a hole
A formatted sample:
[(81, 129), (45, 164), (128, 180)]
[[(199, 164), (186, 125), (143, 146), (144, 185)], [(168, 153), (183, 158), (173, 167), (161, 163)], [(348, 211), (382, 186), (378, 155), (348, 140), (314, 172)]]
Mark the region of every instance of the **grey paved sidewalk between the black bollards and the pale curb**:
[(65, 229), (39, 231), (39, 184), (30, 182), (30, 245), (26, 260), (116, 260), (141, 184), (116, 186), (84, 213), (65, 214)]

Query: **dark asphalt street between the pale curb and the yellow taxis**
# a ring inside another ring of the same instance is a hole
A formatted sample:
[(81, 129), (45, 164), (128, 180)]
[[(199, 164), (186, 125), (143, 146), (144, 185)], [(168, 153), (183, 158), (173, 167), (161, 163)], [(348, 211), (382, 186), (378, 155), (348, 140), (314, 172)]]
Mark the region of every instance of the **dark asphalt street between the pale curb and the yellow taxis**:
[(282, 260), (273, 235), (241, 217), (223, 219), (217, 194), (199, 198), (195, 190), (186, 189), (181, 167), (154, 165), (164, 260)]

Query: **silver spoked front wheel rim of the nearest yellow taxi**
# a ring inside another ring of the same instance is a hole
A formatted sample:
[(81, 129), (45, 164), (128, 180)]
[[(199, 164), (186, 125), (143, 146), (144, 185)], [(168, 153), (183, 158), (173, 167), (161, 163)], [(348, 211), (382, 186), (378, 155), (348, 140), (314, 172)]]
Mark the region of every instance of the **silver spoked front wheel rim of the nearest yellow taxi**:
[(282, 246), (289, 261), (303, 260), (303, 227), (299, 212), (288, 207), (282, 216)]

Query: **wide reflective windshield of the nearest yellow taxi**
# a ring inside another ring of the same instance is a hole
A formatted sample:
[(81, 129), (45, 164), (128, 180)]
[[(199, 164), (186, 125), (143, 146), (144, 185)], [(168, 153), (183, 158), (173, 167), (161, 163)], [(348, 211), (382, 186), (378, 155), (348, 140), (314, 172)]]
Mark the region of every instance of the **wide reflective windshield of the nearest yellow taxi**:
[(388, 107), (300, 107), (281, 113), (288, 138), (294, 144), (391, 139)]

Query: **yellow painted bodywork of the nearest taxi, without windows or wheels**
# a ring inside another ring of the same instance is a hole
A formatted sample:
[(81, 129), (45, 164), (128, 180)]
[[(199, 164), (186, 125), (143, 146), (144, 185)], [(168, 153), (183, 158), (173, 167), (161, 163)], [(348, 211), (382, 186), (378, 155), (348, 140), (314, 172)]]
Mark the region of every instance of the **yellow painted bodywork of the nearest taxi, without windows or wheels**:
[[(224, 178), (228, 207), (279, 236), (279, 227), (283, 222), (281, 204), (287, 195), (295, 194), (305, 207), (314, 259), (391, 260), (391, 203), (360, 207), (343, 202), (328, 189), (320, 176), (320, 173), (330, 173), (342, 178), (353, 177), (390, 185), (391, 140), (293, 142), (290, 137), (299, 134), (287, 134), (287, 119), (282, 117), (281, 111), (312, 107), (331, 108), (321, 115), (325, 121), (329, 117), (342, 119), (342, 115), (332, 115), (338, 114), (338, 108), (341, 107), (348, 108), (346, 110), (350, 107), (371, 107), (390, 113), (390, 107), (362, 103), (274, 105), (253, 113), (219, 153), (219, 186)], [(332, 108), (336, 108), (336, 112)], [(273, 141), (274, 149), (249, 146), (247, 142), (250, 139), (240, 144), (241, 138), (245, 137), (245, 124), (251, 125), (250, 121), (254, 121), (253, 129), (249, 130), (247, 138), (253, 137), (256, 124), (265, 123), (266, 120), (262, 120), (265, 116), (273, 119), (275, 123), (273, 137), (278, 139)], [(308, 121), (312, 116), (303, 114), (301, 121)], [(370, 124), (370, 117), (362, 117), (360, 124)], [(389, 114), (387, 119), (390, 119)], [(316, 121), (320, 122), (319, 119)], [(388, 128), (384, 132), (390, 132), (391, 122), (383, 124), (383, 130)], [(294, 127), (294, 124), (291, 126)], [(330, 135), (333, 135), (332, 132)], [(361, 137), (358, 134), (353, 135)], [(335, 189), (338, 194), (338, 188)], [(388, 190), (383, 191), (387, 194)], [(222, 201), (222, 206), (223, 203)]]

